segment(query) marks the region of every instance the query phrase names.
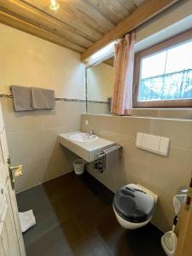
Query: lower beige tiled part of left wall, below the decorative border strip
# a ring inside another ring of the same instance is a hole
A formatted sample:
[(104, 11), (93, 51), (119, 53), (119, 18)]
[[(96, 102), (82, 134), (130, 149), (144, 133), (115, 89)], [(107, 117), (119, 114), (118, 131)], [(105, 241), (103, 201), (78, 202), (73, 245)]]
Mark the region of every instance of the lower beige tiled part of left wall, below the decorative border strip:
[(57, 143), (57, 135), (79, 131), (84, 102), (56, 102), (53, 110), (16, 113), (12, 99), (2, 99), (3, 117), (12, 165), (23, 165), (16, 191), (28, 189), (73, 170), (76, 158)]

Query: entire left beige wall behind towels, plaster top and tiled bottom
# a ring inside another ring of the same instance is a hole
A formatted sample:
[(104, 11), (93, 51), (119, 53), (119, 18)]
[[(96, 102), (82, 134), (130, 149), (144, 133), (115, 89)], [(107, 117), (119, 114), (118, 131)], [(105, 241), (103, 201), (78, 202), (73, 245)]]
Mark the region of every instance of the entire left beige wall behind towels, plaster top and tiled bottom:
[[(55, 90), (56, 97), (84, 99), (84, 64), (72, 50), (0, 24), (0, 93), (10, 84)], [(72, 171), (73, 154), (57, 143), (57, 135), (79, 130), (84, 102), (56, 102), (54, 110), (15, 113), (3, 99), (3, 116), (11, 162), (23, 164), (16, 191)]]

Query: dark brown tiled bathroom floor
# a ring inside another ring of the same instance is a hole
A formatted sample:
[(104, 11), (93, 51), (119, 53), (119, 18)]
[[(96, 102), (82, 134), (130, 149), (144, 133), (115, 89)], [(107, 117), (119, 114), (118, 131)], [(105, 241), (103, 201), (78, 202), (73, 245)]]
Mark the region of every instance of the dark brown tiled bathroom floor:
[(26, 231), (27, 256), (159, 256), (162, 233), (152, 224), (124, 230), (113, 193), (88, 173), (63, 177), (17, 195), (20, 212), (32, 208), (37, 224)]

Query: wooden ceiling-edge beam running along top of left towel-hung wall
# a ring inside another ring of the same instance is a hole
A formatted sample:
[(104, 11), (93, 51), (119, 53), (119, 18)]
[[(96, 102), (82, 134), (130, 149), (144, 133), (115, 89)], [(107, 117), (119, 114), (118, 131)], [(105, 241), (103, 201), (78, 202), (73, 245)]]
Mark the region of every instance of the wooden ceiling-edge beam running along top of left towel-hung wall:
[(8, 26), (15, 27), (23, 32), (28, 32), (38, 38), (43, 38), (51, 43), (66, 47), (67, 49), (73, 49), (79, 53), (82, 53), (85, 49), (77, 44), (73, 44), (73, 42), (67, 40), (66, 38), (56, 36), (54, 33), (45, 31), (43, 28), (34, 26), (25, 20), (20, 20), (19, 18), (9, 15), (2, 10), (0, 10), (0, 22)]

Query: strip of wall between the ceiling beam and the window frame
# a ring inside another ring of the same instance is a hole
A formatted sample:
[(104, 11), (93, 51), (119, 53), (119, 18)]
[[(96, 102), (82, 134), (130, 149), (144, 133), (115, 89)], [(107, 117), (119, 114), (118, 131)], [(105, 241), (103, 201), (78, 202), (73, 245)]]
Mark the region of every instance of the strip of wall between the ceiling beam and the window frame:
[(192, 0), (183, 0), (136, 29), (136, 51), (146, 49), (192, 27)]

